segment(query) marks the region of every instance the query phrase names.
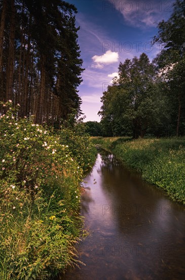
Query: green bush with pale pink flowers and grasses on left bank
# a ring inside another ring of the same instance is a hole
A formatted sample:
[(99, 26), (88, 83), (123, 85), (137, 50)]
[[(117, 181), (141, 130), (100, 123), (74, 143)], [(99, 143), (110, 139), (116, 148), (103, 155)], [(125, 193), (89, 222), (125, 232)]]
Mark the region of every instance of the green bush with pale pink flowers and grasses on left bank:
[(92, 166), (95, 154), (84, 150), (83, 164), (80, 149), (47, 126), (18, 120), (11, 103), (0, 117), (0, 278), (48, 279), (78, 265), (82, 166)]

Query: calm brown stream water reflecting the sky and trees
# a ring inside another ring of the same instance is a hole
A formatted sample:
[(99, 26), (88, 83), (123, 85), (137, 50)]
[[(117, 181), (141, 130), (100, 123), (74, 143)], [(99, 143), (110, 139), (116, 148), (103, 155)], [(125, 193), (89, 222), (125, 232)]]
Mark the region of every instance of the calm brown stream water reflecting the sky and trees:
[(60, 279), (182, 279), (183, 206), (105, 152), (85, 181), (81, 214), (92, 234), (77, 249), (86, 266)]

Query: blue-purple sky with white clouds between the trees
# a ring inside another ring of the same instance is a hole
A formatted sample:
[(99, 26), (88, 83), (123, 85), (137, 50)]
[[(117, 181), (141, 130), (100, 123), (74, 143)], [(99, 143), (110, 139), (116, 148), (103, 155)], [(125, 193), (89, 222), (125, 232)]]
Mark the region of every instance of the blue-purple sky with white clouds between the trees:
[(68, 0), (78, 9), (78, 43), (83, 59), (79, 86), (85, 121), (100, 121), (100, 98), (118, 72), (120, 62), (145, 52), (152, 61), (161, 46), (151, 45), (157, 24), (167, 20), (172, 1), (161, 0)]

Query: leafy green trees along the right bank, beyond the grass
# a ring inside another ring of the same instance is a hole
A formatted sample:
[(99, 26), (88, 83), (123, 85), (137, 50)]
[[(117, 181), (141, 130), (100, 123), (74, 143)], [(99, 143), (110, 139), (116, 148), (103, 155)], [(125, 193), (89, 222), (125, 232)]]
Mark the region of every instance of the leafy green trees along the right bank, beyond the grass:
[(145, 53), (126, 59), (107, 88), (99, 111), (105, 136), (185, 134), (185, 2), (176, 0), (153, 43), (163, 48), (153, 62)]

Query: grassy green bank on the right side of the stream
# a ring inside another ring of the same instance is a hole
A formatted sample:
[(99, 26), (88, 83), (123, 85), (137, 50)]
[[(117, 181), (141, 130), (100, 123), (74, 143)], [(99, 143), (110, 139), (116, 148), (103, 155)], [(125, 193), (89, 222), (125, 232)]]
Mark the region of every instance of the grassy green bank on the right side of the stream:
[(93, 143), (142, 172), (143, 179), (164, 189), (172, 200), (185, 204), (184, 137), (135, 140), (93, 137)]

